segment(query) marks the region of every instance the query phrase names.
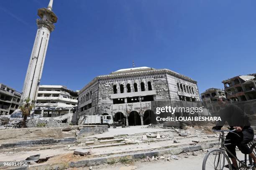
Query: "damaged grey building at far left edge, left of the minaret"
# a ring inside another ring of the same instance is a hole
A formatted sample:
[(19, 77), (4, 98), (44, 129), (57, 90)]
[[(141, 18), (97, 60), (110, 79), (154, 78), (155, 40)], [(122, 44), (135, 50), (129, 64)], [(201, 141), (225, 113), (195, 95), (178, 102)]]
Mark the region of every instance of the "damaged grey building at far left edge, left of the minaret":
[(18, 109), (20, 96), (20, 92), (0, 84), (0, 115), (10, 115)]

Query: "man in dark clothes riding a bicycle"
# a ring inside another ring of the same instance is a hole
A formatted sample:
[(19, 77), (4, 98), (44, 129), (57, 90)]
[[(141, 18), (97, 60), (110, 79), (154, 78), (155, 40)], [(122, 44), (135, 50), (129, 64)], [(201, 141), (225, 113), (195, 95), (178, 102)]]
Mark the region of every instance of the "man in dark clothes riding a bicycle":
[[(217, 123), (216, 126), (212, 127), (214, 130), (220, 130), (225, 122), (228, 122), (230, 126), (230, 130), (236, 129), (233, 133), (228, 133), (226, 136), (225, 143), (231, 143), (230, 145), (226, 145), (227, 149), (236, 156), (236, 146), (243, 154), (248, 154), (253, 159), (253, 164), (251, 166), (255, 166), (256, 157), (252, 153), (252, 150), (248, 147), (248, 143), (253, 140), (254, 132), (251, 128), (251, 124), (248, 121), (248, 117), (246, 117), (244, 111), (239, 108), (237, 105), (228, 104), (226, 98), (222, 97), (218, 99), (218, 104), (222, 108), (219, 111), (219, 116), (221, 121)], [(238, 165), (236, 159), (228, 153), (228, 157), (232, 161), (233, 170), (238, 170)], [(225, 166), (226, 167), (226, 166)], [(228, 168), (228, 166), (227, 166)]]

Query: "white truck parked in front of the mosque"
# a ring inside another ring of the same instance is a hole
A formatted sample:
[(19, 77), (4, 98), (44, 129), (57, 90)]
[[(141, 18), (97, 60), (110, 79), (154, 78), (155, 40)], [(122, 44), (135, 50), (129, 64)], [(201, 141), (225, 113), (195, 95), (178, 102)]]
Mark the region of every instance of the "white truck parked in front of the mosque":
[(113, 117), (111, 115), (84, 115), (82, 124), (85, 125), (113, 125)]

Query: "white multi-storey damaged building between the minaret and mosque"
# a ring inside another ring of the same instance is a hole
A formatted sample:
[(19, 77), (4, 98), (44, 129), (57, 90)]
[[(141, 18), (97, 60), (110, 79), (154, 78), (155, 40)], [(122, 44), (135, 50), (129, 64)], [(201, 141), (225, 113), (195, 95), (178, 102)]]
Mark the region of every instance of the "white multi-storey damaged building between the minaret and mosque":
[(39, 85), (34, 114), (58, 117), (77, 110), (77, 92), (62, 85)]

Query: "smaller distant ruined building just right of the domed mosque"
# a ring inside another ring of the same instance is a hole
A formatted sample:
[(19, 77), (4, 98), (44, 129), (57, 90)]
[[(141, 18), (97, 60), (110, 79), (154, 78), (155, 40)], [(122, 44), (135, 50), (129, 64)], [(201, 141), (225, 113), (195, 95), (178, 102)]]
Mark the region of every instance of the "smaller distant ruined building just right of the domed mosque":
[(211, 112), (212, 115), (215, 115), (220, 110), (220, 106), (217, 101), (222, 97), (226, 98), (225, 91), (218, 88), (209, 88), (205, 90), (205, 92), (201, 93), (203, 105)]

